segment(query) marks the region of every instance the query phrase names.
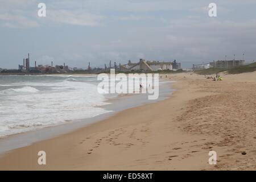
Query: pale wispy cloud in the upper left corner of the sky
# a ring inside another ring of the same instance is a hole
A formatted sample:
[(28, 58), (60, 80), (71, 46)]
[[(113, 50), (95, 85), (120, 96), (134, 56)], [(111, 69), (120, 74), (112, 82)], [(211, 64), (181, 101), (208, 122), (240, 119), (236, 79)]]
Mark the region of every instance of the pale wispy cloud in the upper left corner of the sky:
[(1, 4), (0, 27), (33, 28), (56, 23), (75, 26), (100, 26), (104, 16), (77, 9), (59, 9), (46, 3), (46, 17), (38, 16), (39, 1), (11, 0)]

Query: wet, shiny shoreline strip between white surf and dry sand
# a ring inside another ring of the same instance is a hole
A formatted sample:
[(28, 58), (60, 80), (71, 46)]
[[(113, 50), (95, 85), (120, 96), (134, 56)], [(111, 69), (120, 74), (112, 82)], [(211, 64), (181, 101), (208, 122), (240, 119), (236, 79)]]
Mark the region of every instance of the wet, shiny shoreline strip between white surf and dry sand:
[[(74, 76), (75, 77), (75, 76)], [(119, 111), (129, 109), (131, 107), (137, 107), (139, 105), (148, 104), (151, 102), (158, 102), (164, 100), (172, 93), (170, 85), (167, 83), (160, 85), (163, 92), (159, 93), (158, 100), (144, 100), (144, 94), (127, 94), (119, 96), (106, 95), (106, 105), (96, 106), (109, 110), (109, 113), (96, 115), (92, 118), (79, 119), (73, 122), (64, 122), (52, 126), (45, 126), (31, 131), (25, 131), (23, 133), (16, 133), (0, 137), (0, 157), (5, 155), (10, 150), (16, 148), (30, 146), (32, 143), (40, 142), (42, 140), (55, 138), (59, 135), (67, 134), (81, 127), (86, 127), (102, 121), (103, 119), (112, 117)], [(145, 95), (146, 96), (146, 95)]]

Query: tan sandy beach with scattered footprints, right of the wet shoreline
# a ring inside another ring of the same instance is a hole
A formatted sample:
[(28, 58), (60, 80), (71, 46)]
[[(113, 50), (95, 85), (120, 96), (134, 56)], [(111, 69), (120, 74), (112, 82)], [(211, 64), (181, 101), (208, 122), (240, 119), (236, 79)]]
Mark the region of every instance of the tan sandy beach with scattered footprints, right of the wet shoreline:
[[(12, 150), (0, 169), (255, 170), (256, 72), (222, 76), (170, 74), (164, 79), (176, 81), (175, 91), (167, 100)], [(47, 164), (40, 166), (42, 150)], [(216, 165), (208, 163), (210, 150)]]

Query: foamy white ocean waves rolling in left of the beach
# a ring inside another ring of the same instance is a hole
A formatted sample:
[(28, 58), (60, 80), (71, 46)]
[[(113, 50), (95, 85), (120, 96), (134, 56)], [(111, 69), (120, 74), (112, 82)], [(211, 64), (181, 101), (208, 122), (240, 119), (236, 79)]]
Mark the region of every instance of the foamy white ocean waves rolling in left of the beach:
[(96, 76), (0, 76), (0, 137), (111, 112)]

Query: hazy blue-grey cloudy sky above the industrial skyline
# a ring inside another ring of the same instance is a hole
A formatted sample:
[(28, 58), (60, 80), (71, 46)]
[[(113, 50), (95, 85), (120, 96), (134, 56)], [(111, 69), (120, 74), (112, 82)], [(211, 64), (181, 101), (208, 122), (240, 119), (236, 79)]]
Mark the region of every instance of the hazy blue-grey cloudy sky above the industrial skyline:
[[(38, 4), (46, 4), (46, 17)], [(217, 16), (208, 15), (216, 3)], [(0, 0), (0, 68), (37, 64), (104, 67), (139, 59), (183, 68), (256, 60), (255, 0)]]

